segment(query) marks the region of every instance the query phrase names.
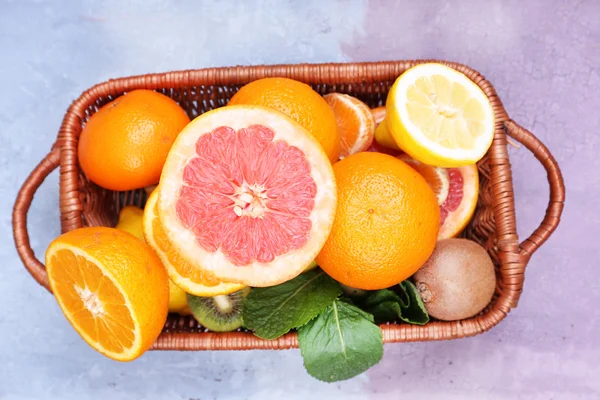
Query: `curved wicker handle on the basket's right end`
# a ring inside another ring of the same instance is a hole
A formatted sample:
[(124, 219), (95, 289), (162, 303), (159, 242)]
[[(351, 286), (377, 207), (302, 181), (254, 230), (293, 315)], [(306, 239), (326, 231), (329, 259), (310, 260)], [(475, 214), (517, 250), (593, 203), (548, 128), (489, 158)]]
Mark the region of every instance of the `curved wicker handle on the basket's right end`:
[(537, 137), (513, 120), (506, 121), (504, 126), (509, 136), (523, 144), (542, 163), (550, 184), (550, 200), (542, 223), (533, 231), (531, 236), (519, 245), (521, 253), (531, 257), (548, 240), (560, 222), (565, 202), (565, 183), (558, 163), (548, 148)]

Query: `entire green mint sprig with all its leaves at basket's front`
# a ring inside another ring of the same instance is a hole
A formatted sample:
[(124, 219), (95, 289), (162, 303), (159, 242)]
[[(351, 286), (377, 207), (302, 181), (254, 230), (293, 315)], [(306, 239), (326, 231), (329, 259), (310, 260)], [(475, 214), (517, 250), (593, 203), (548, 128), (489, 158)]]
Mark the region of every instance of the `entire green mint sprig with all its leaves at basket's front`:
[(359, 375), (381, 360), (383, 339), (376, 323), (429, 321), (410, 281), (367, 292), (355, 299), (357, 305), (338, 298), (341, 293), (340, 284), (320, 269), (277, 286), (254, 288), (244, 303), (244, 326), (264, 339), (298, 329), (307, 372), (335, 382)]

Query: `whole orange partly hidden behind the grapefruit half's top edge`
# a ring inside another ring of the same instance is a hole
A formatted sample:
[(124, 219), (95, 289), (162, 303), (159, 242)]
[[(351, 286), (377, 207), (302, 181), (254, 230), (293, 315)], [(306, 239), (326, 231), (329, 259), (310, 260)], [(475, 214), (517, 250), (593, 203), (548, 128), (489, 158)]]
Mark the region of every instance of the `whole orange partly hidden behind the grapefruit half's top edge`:
[(263, 78), (243, 86), (229, 104), (274, 108), (302, 125), (323, 147), (333, 163), (340, 156), (335, 114), (310, 86), (288, 78)]

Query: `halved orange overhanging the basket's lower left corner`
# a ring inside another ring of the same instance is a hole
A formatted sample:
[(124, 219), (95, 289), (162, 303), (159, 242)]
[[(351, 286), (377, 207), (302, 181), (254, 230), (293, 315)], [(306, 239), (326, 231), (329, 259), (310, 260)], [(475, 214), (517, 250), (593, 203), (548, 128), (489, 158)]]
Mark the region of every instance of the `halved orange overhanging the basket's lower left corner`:
[(167, 273), (150, 246), (127, 232), (105, 227), (67, 232), (48, 247), (46, 271), (71, 325), (107, 357), (139, 357), (165, 324)]

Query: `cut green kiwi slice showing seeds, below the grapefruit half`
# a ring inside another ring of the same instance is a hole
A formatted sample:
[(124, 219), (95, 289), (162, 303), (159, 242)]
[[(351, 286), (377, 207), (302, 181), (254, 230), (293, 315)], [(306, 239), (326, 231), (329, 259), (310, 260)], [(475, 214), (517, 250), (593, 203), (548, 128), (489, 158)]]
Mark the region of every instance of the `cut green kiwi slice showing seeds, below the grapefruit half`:
[(214, 297), (187, 294), (188, 306), (200, 325), (214, 332), (231, 332), (242, 326), (242, 309), (250, 288)]

